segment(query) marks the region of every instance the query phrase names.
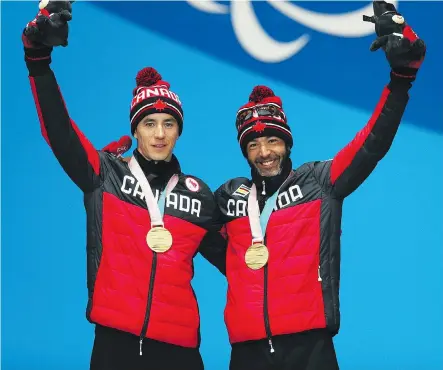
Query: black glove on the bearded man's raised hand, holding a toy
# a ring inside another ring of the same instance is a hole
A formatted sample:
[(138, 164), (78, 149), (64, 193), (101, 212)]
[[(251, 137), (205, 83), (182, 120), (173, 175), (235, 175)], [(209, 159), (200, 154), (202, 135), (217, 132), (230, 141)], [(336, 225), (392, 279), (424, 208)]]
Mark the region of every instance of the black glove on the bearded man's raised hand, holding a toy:
[(375, 24), (378, 38), (370, 50), (383, 49), (392, 72), (408, 79), (415, 79), (425, 54), (426, 45), (418, 38), (395, 6), (385, 1), (374, 1), (374, 16), (363, 16), (363, 20)]

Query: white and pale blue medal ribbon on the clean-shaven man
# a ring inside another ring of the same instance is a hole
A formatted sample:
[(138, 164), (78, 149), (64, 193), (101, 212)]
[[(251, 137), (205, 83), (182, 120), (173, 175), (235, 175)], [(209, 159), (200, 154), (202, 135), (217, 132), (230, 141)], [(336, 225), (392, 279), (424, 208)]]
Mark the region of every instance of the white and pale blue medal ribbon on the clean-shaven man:
[(160, 194), (157, 204), (154, 194), (152, 193), (151, 186), (149, 185), (149, 181), (134, 156), (132, 156), (131, 160), (129, 161), (129, 169), (134, 177), (137, 179), (140, 187), (142, 188), (143, 196), (145, 197), (146, 201), (146, 206), (148, 207), (149, 216), (151, 217), (151, 226), (164, 227), (163, 215), (165, 213), (166, 197), (177, 185), (178, 175), (172, 175), (172, 177), (169, 179), (168, 183), (166, 184), (165, 190)]

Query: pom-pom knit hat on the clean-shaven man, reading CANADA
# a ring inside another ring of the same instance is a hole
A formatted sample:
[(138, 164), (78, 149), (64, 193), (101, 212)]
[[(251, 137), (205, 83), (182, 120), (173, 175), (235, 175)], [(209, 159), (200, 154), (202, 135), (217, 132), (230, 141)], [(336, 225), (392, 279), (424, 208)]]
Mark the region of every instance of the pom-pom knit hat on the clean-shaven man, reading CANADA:
[(143, 117), (153, 113), (168, 113), (178, 123), (179, 135), (183, 130), (182, 103), (177, 94), (169, 90), (169, 83), (152, 67), (142, 69), (135, 78), (137, 86), (132, 91), (129, 113), (131, 133), (134, 135), (138, 123)]

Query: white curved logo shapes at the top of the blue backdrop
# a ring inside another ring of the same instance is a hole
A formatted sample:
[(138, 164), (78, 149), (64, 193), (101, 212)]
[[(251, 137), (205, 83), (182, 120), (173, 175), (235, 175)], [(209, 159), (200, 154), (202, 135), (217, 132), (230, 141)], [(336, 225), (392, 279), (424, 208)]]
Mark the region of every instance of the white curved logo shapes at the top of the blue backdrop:
[[(194, 8), (211, 14), (229, 14), (235, 35), (242, 48), (253, 58), (264, 63), (278, 63), (302, 50), (311, 39), (304, 33), (293, 41), (280, 42), (266, 32), (254, 12), (252, 0), (233, 0), (230, 6), (214, 0), (187, 0)], [(295, 22), (335, 37), (357, 38), (374, 33), (374, 25), (363, 22), (363, 15), (373, 13), (372, 3), (345, 13), (319, 13), (293, 4), (287, 0), (268, 4)], [(398, 9), (398, 1), (391, 1)]]

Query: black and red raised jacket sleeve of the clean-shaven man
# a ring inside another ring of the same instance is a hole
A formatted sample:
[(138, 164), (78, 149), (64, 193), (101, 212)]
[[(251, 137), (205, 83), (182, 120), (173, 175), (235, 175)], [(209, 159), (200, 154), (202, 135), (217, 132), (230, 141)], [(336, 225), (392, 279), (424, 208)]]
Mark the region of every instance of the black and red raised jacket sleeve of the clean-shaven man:
[(98, 152), (69, 117), (49, 62), (26, 65), (43, 137), (72, 181), (83, 192), (92, 191), (101, 183)]

